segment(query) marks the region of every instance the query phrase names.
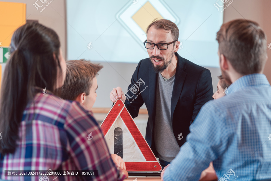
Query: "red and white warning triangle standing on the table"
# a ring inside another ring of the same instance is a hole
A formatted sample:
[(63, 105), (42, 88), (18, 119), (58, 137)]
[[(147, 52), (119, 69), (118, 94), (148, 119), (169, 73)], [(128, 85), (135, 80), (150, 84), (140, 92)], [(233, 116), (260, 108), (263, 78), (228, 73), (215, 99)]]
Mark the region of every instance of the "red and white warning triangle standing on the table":
[[(156, 160), (151, 148), (143, 138), (122, 100), (118, 99), (116, 101), (100, 127), (108, 148), (111, 150), (111, 154), (113, 154), (112, 150), (115, 149), (116, 151), (116, 148), (123, 153), (123, 160), (127, 171), (160, 172), (162, 170), (162, 167)], [(118, 135), (121, 136), (119, 137)]]

